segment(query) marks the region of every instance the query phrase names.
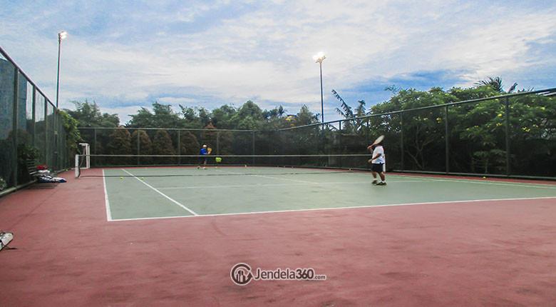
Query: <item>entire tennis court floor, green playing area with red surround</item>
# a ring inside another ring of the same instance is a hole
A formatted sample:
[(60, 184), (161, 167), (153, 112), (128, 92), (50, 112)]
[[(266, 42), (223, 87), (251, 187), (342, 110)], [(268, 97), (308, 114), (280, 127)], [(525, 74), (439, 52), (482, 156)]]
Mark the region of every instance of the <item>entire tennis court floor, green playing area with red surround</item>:
[[(547, 306), (556, 185), (316, 168), (91, 168), (0, 198), (6, 306)], [(412, 205), (412, 206), (410, 206)], [(321, 281), (230, 278), (312, 268)]]

